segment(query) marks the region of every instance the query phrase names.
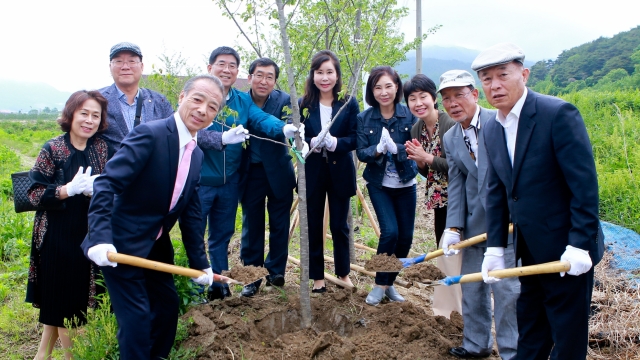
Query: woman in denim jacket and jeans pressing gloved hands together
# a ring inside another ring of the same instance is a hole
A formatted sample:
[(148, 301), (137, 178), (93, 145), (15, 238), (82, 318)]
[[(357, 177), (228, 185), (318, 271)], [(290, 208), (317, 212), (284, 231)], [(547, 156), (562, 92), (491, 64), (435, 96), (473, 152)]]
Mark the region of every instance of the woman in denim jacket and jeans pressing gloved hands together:
[[(366, 87), (371, 107), (358, 115), (358, 159), (367, 164), (363, 177), (380, 224), (378, 254), (406, 257), (413, 240), (416, 215), (415, 161), (407, 157), (404, 143), (411, 140), (416, 118), (400, 104), (402, 81), (389, 66), (371, 70)], [(366, 303), (378, 305), (386, 296), (404, 301), (393, 287), (398, 273), (376, 273), (376, 285)]]

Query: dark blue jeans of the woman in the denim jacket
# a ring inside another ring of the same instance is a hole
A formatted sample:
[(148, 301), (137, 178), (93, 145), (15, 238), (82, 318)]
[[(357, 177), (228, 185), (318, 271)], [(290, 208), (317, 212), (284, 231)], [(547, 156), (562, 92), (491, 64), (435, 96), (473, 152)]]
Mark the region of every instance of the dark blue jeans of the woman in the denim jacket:
[[(413, 241), (416, 218), (416, 185), (403, 188), (367, 184), (371, 204), (380, 223), (378, 254), (407, 257)], [(376, 285), (393, 285), (398, 273), (376, 273)]]

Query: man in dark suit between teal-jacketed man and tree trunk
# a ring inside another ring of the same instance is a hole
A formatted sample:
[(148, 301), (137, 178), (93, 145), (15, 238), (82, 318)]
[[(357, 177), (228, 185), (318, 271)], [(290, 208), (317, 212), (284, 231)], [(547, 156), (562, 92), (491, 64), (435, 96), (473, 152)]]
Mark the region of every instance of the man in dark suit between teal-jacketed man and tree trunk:
[[(275, 90), (280, 68), (271, 59), (260, 58), (249, 66), (249, 95), (265, 113), (286, 122), (285, 108), (291, 109), (289, 94)], [(257, 129), (249, 128), (261, 135)], [(264, 137), (264, 135), (261, 135)], [(289, 210), (293, 203), (296, 175), (288, 148), (270, 141), (251, 139), (243, 154), (246, 179), (241, 189), (242, 247), (244, 265), (264, 266), (269, 270), (267, 286), (283, 286), (289, 255)], [(269, 253), (264, 257), (265, 200), (269, 211)], [(243, 296), (253, 296), (262, 279), (246, 285)]]

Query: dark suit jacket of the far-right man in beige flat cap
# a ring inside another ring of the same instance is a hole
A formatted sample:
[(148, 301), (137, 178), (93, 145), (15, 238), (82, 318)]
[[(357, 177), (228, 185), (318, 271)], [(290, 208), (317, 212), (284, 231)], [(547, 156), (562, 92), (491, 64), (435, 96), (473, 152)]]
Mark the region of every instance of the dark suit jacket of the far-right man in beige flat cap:
[(484, 135), (485, 145), (490, 145), (488, 246), (507, 246), (511, 215), (517, 257), (517, 239), (523, 238), (536, 263), (560, 259), (571, 245), (588, 250), (596, 265), (604, 252), (598, 178), (578, 109), (529, 90), (518, 122), (513, 167), (503, 129), (497, 121), (488, 121)]

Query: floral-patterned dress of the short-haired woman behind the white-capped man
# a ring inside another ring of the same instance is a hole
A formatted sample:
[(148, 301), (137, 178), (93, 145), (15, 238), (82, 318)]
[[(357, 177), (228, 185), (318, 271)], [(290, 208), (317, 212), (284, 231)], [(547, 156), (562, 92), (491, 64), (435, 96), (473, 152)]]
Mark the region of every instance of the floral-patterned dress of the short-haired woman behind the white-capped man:
[[(433, 138), (429, 137), (427, 124), (422, 123), (422, 131), (420, 132), (420, 144), (427, 154), (442, 157), (442, 147), (440, 146), (440, 135), (438, 128), (440, 123), (436, 120)], [(429, 169), (427, 176), (427, 209), (440, 209), (447, 206), (447, 174)]]

